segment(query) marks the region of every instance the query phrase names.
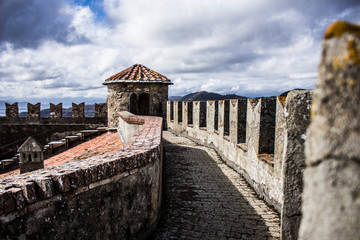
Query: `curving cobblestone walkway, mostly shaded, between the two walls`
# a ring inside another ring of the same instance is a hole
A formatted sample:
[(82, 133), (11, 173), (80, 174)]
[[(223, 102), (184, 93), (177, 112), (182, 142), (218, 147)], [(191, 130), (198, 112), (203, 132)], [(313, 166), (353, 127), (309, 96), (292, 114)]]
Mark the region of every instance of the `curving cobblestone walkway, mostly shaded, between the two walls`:
[(164, 132), (164, 202), (151, 239), (280, 239), (279, 215), (210, 148)]

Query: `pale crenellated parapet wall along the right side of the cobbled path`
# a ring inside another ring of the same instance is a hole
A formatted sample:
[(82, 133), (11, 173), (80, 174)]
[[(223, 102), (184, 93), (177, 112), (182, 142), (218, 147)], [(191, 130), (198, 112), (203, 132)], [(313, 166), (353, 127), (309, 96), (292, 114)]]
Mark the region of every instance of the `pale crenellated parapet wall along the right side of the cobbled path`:
[[(304, 139), (311, 97), (310, 91), (292, 91), (287, 98), (207, 101), (206, 127), (200, 127), (200, 102), (182, 102), (181, 123), (176, 117), (179, 103), (168, 102), (167, 125), (169, 130), (215, 148), (260, 197), (288, 216), (284, 232), (297, 232), (300, 222), (293, 214), (301, 218)], [(169, 116), (172, 104), (173, 118)], [(190, 104), (192, 125), (186, 124), (185, 117)]]

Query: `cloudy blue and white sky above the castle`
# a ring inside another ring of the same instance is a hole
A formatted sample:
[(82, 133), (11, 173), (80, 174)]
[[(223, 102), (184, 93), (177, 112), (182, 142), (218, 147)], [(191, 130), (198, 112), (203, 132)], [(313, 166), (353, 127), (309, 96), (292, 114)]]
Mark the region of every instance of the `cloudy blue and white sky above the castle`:
[(0, 0), (0, 100), (104, 102), (135, 64), (170, 95), (269, 96), (315, 85), (322, 35), (358, 0)]

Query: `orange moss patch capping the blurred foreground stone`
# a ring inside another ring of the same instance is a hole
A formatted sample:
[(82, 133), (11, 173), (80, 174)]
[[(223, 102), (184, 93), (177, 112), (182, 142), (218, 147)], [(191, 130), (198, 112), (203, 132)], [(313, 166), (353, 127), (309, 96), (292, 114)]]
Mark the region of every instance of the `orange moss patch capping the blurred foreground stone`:
[(324, 38), (330, 39), (332, 37), (341, 37), (345, 33), (354, 34), (360, 37), (360, 26), (345, 21), (337, 21), (327, 28)]

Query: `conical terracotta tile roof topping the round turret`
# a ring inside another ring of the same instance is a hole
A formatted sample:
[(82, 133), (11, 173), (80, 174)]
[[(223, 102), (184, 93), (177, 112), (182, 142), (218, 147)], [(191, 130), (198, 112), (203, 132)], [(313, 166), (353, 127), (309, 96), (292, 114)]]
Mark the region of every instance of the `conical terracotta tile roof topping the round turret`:
[(141, 64), (135, 64), (121, 72), (109, 77), (103, 84), (116, 82), (143, 82), (172, 84), (164, 75), (151, 70)]

